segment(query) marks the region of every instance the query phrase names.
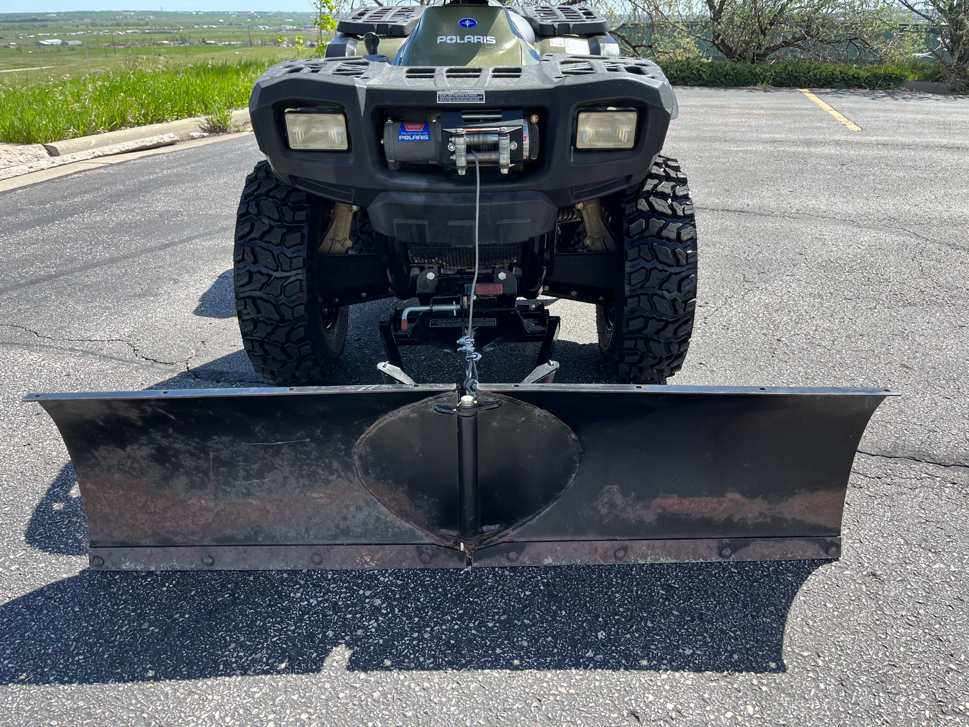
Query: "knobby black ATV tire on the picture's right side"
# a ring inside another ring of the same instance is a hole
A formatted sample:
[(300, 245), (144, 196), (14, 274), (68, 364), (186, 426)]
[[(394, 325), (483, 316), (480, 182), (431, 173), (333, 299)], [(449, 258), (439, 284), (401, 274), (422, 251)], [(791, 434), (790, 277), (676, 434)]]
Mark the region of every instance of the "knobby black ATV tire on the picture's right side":
[(624, 258), (614, 303), (596, 309), (599, 347), (620, 381), (662, 384), (686, 358), (697, 301), (697, 228), (679, 163), (657, 157), (621, 205)]

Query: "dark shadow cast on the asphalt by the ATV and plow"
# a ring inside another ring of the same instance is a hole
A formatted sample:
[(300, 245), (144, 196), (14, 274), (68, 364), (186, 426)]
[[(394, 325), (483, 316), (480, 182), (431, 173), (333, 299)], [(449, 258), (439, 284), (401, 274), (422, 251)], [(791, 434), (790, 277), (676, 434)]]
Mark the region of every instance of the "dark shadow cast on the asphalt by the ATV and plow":
[[(333, 383), (380, 382), (374, 364), (383, 352), (365, 331), (388, 305), (374, 301), (355, 311), (362, 317), (352, 319), (348, 355)], [(483, 378), (518, 381), (537, 353), (537, 344), (527, 344), (488, 354)], [(404, 358), (419, 381), (453, 381), (461, 373), (460, 363), (444, 352), (417, 349), (404, 351)], [(563, 364), (559, 381), (608, 380), (595, 344), (560, 341), (555, 358)], [(241, 351), (153, 388), (234, 385), (268, 386)], [(27, 526), (30, 546), (86, 554), (75, 485), (68, 464)], [(329, 668), (784, 671), (788, 611), (820, 564), (84, 570), (0, 607), (0, 683), (184, 680)]]

